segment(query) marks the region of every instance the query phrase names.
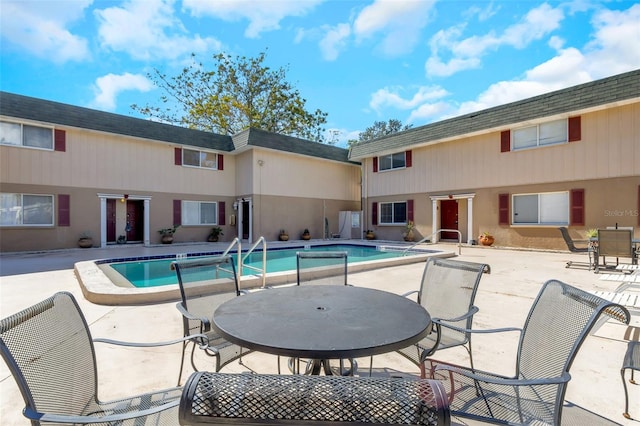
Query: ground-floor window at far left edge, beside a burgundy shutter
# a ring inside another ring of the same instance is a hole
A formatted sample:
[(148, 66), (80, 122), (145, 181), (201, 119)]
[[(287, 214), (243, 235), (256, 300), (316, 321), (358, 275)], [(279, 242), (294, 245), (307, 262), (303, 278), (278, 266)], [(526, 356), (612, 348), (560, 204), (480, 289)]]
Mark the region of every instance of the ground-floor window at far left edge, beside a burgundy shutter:
[(0, 194), (0, 226), (52, 226), (53, 195)]

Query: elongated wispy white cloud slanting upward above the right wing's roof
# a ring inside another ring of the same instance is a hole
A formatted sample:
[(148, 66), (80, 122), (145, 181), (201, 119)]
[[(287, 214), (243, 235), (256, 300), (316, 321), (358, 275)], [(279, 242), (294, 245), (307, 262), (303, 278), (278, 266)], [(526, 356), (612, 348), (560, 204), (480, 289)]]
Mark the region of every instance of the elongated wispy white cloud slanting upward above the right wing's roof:
[[(560, 7), (552, 8), (545, 3), (531, 9), (521, 22), (507, 27), (502, 34), (490, 31), (459, 40), (466, 29), (464, 24), (438, 31), (430, 40), (431, 56), (425, 64), (426, 73), (450, 76), (461, 70), (477, 68), (487, 51), (501, 46), (523, 49), (557, 29), (563, 19)], [(449, 59), (443, 60), (442, 56)]]

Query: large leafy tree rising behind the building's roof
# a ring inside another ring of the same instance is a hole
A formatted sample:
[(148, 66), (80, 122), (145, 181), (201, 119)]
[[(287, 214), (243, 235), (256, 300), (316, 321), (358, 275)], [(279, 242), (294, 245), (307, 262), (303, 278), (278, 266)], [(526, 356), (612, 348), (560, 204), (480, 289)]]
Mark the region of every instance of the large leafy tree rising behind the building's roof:
[(219, 53), (213, 56), (213, 71), (194, 62), (175, 77), (154, 69), (148, 77), (164, 90), (164, 106), (131, 108), (166, 123), (223, 135), (254, 127), (323, 142), (327, 113), (308, 112), (306, 99), (286, 80), (286, 69), (270, 69), (265, 57), (265, 52), (256, 58)]

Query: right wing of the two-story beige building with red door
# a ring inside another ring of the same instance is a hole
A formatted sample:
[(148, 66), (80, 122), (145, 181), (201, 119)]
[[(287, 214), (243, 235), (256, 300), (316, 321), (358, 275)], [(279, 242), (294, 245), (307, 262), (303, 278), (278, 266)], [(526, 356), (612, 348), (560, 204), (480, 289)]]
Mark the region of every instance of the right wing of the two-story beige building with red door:
[[(354, 146), (363, 209), (380, 238), (566, 249), (606, 226), (640, 234), (640, 71)], [(441, 231), (447, 230), (447, 231)]]

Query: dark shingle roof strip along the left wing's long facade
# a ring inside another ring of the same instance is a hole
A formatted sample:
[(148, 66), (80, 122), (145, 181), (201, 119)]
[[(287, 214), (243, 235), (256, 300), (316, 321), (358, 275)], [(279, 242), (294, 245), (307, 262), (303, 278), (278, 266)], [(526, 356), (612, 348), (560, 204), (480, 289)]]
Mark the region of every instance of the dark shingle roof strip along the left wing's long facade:
[(233, 150), (229, 136), (8, 92), (0, 92), (0, 115), (219, 151)]

